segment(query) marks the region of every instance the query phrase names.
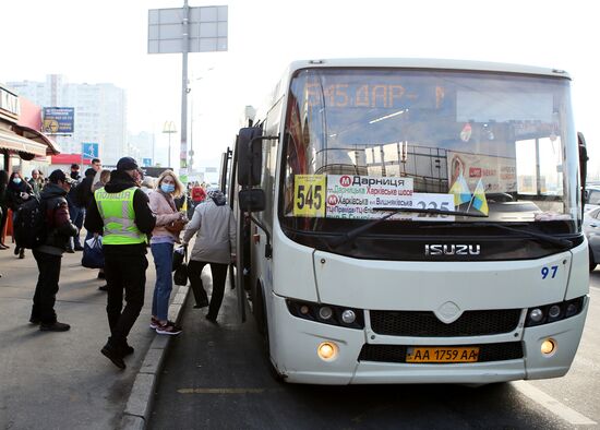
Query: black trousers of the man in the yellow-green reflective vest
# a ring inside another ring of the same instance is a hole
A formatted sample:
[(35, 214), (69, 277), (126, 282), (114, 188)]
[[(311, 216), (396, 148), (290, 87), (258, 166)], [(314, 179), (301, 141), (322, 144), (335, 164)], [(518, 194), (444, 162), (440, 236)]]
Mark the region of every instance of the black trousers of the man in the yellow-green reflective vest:
[(109, 343), (116, 347), (125, 345), (127, 336), (144, 306), (147, 267), (145, 254), (105, 252), (104, 272), (108, 286), (106, 313), (111, 335)]

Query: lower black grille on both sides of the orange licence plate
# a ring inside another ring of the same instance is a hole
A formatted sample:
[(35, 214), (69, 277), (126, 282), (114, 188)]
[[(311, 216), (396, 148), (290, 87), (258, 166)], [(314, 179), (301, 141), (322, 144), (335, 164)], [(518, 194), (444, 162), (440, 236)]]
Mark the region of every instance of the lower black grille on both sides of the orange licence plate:
[[(516, 360), (523, 358), (520, 342), (500, 344), (481, 344), (477, 362)], [(364, 344), (358, 358), (359, 361), (406, 362), (407, 345), (373, 345)]]

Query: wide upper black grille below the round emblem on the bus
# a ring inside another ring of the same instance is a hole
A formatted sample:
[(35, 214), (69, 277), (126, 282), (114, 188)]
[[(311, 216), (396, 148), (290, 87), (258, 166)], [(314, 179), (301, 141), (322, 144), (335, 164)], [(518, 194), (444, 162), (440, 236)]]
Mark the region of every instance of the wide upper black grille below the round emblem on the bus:
[(520, 309), (465, 311), (449, 324), (425, 311), (370, 311), (377, 334), (413, 337), (483, 336), (509, 333), (519, 322)]

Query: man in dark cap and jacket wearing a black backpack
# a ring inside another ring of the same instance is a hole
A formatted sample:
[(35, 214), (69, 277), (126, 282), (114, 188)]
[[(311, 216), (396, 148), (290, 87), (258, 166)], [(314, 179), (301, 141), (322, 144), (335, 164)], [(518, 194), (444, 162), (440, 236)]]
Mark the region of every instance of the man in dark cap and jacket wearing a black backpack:
[(40, 324), (39, 330), (43, 332), (65, 332), (71, 326), (57, 321), (55, 302), (59, 289), (62, 253), (69, 238), (77, 228), (69, 218), (69, 208), (64, 199), (71, 188), (71, 178), (68, 178), (62, 170), (55, 170), (50, 174), (49, 180), (40, 194), (48, 235), (44, 243), (33, 250), (39, 276), (29, 322)]

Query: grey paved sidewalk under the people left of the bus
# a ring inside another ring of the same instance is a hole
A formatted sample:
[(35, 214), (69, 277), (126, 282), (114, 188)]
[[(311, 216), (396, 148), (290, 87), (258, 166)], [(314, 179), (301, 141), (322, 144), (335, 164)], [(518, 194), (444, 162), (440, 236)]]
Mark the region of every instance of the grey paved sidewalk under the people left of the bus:
[[(122, 371), (100, 354), (109, 329), (106, 292), (97, 271), (81, 266), (81, 252), (62, 259), (56, 310), (63, 333), (28, 323), (37, 266), (0, 251), (0, 429), (116, 429), (151, 343), (148, 329), (155, 270), (148, 252), (145, 304), (129, 343), (135, 348)], [(173, 296), (177, 287), (173, 288)]]

